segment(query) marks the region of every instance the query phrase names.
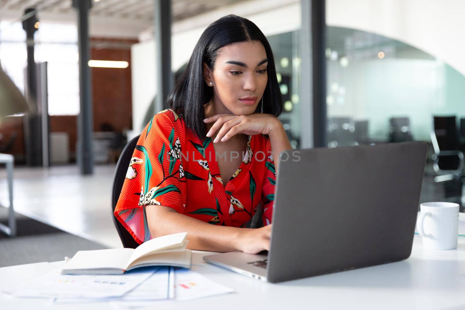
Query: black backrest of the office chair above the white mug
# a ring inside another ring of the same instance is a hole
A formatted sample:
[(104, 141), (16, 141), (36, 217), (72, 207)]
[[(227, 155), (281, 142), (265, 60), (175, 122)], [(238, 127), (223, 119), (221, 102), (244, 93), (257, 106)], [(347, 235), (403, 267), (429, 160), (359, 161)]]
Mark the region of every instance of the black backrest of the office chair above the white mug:
[(455, 116), (434, 116), (433, 133), (436, 138), (436, 143), (433, 141), (435, 152), (461, 149)]

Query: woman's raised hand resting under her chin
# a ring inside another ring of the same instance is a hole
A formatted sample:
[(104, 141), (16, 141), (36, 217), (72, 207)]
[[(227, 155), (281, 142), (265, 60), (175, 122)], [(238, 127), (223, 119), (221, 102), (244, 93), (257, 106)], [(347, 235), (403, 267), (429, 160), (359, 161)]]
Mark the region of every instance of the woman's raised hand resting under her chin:
[(204, 119), (206, 124), (214, 122), (206, 136), (211, 137), (218, 132), (214, 143), (226, 141), (232, 136), (243, 133), (246, 135), (267, 134), (281, 125), (279, 119), (271, 114), (253, 113), (249, 115), (235, 115), (232, 113), (220, 113)]

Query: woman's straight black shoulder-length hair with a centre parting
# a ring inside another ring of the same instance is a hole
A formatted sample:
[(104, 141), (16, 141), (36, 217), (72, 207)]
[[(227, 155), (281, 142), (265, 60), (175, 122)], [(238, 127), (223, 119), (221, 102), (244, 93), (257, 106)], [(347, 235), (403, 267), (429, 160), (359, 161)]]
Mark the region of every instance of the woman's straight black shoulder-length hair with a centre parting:
[[(283, 110), (283, 100), (276, 78), (273, 53), (265, 35), (259, 27), (243, 17), (227, 15), (214, 21), (200, 36), (194, 47), (186, 69), (179, 77), (173, 91), (167, 98), (167, 105), (182, 115), (187, 127), (199, 137), (206, 136), (204, 105), (213, 97), (213, 89), (206, 85), (203, 75), (203, 64), (213, 69), (218, 50), (226, 45), (257, 40), (265, 47), (268, 59), (268, 82), (266, 83), (263, 101), (260, 101), (255, 112), (263, 112), (279, 116)], [(262, 107), (263, 102), (263, 107)]]

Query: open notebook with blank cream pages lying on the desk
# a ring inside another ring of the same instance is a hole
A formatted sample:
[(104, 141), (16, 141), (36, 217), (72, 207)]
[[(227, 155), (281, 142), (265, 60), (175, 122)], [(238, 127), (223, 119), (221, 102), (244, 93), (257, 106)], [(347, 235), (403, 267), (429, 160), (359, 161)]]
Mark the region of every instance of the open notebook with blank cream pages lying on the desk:
[(186, 249), (187, 233), (181, 232), (151, 239), (135, 249), (78, 251), (61, 274), (118, 275), (146, 266), (190, 268), (192, 251)]

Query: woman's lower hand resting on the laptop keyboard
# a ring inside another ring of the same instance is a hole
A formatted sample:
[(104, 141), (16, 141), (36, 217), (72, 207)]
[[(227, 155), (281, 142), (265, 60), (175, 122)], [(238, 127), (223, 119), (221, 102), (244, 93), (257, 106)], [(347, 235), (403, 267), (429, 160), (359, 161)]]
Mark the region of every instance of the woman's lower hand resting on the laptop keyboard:
[(249, 254), (270, 250), (271, 225), (260, 228), (241, 228), (236, 248)]

